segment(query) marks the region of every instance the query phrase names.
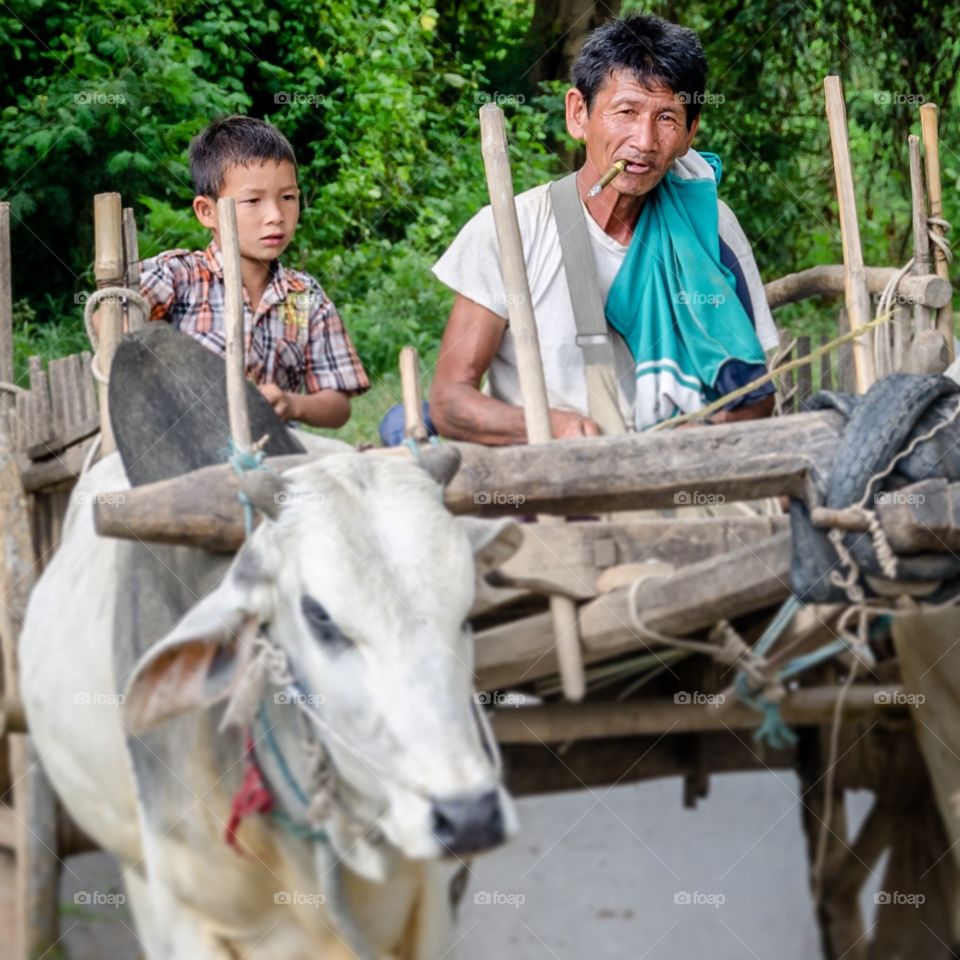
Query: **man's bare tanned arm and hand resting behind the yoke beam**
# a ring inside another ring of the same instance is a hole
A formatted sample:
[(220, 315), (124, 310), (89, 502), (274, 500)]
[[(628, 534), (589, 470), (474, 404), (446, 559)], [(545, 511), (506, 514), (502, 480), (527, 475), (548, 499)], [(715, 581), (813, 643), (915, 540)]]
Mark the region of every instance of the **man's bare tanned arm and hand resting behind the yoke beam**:
[[(505, 329), (502, 317), (457, 294), (430, 390), (430, 418), (441, 436), (491, 446), (527, 442), (522, 408), (480, 392)], [(550, 424), (558, 438), (600, 433), (589, 417), (569, 410), (551, 410)]]

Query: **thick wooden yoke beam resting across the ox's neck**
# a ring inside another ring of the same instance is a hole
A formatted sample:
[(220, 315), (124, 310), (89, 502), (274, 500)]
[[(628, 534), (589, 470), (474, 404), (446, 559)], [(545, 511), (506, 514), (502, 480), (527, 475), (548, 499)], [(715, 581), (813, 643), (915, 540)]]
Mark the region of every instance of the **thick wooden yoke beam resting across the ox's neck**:
[[(802, 496), (810, 471), (829, 473), (842, 429), (840, 414), (820, 411), (549, 445), (450, 444), (461, 467), (446, 487), (445, 502), (454, 513), (516, 516)], [(422, 457), (442, 454), (425, 450)], [(267, 463), (284, 470), (310, 459)], [(104, 536), (228, 551), (243, 541), (237, 480), (227, 465), (129, 490), (122, 503), (96, 504), (94, 517)]]

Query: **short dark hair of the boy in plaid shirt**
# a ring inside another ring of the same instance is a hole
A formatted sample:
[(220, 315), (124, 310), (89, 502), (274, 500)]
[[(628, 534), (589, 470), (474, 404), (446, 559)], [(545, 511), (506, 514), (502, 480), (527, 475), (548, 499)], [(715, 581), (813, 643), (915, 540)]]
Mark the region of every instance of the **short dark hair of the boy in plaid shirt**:
[(271, 123), (254, 117), (220, 117), (190, 141), (190, 175), (197, 196), (216, 200), (232, 166), (289, 160), (294, 170), (297, 158), (290, 141)]

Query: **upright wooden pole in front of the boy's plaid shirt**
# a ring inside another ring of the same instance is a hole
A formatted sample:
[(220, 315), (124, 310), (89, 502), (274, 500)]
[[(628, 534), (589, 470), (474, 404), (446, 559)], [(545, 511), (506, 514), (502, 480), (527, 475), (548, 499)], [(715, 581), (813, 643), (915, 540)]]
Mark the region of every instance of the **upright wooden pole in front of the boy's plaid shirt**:
[(240, 235), (233, 197), (217, 201), (220, 250), (223, 254), (224, 320), (227, 335), (227, 407), (234, 446), (248, 451), (250, 412), (246, 396), (246, 343), (243, 329), (243, 277), (240, 273)]

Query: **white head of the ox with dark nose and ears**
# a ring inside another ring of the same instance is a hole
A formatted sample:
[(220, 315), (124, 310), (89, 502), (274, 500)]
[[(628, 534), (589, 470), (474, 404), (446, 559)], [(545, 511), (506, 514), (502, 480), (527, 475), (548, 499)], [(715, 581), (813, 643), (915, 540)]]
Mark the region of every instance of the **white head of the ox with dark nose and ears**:
[[(393, 457), (328, 456), (266, 499), (273, 518), (138, 665), (130, 727), (230, 696), (267, 631), (331, 734), (342, 785), (394, 848), (424, 858), (502, 842), (516, 818), (478, 725), (467, 616), (477, 567), (513, 553), (520, 529), (451, 516), (435, 480)], [(295, 729), (299, 705), (273, 694), (271, 722)]]

